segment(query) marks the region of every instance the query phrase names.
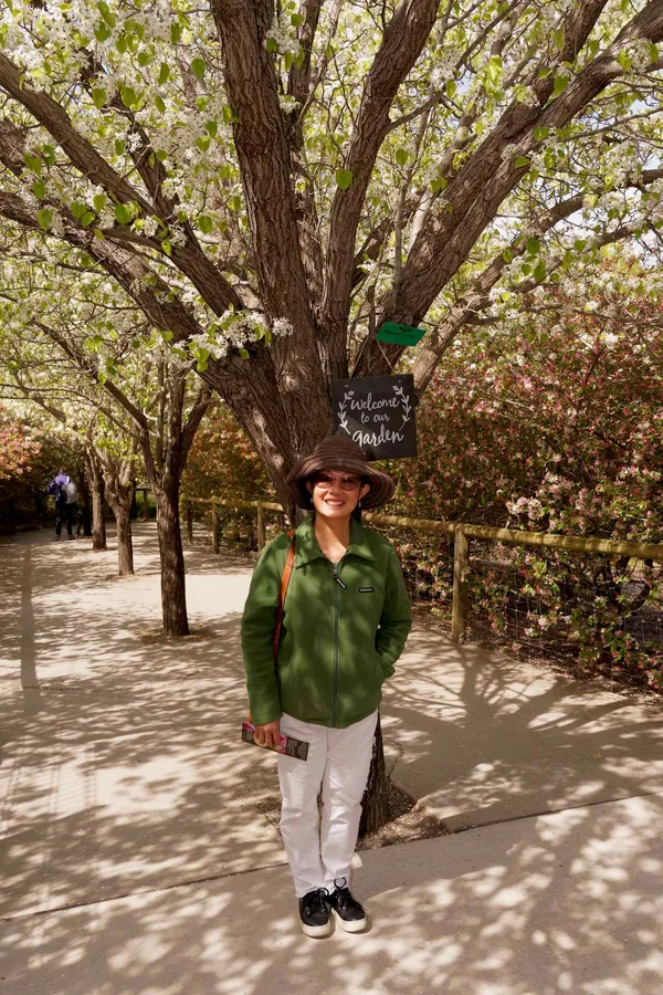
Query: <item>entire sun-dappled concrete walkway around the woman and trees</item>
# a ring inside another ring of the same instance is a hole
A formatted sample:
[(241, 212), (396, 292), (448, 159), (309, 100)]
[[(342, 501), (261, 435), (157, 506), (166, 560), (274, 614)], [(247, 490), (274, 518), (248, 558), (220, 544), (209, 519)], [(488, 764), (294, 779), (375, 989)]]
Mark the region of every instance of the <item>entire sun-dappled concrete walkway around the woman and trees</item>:
[[(0, 991), (649, 995), (663, 988), (655, 704), (414, 632), (383, 705), (394, 778), (454, 834), (357, 857), (370, 932), (311, 941), (238, 740), (251, 563), (188, 552), (198, 640), (135, 577), (0, 541)], [(475, 828), (472, 828), (475, 827)]]

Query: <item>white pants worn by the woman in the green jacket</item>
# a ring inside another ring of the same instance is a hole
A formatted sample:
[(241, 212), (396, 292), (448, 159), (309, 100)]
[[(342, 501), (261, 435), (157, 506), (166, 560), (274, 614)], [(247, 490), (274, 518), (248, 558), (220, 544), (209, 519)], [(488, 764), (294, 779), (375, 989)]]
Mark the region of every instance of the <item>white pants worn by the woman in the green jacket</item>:
[(377, 721), (377, 711), (347, 729), (281, 719), (282, 733), (308, 743), (307, 761), (278, 755), (281, 835), (298, 898), (317, 888), (334, 891), (339, 878), (349, 886)]

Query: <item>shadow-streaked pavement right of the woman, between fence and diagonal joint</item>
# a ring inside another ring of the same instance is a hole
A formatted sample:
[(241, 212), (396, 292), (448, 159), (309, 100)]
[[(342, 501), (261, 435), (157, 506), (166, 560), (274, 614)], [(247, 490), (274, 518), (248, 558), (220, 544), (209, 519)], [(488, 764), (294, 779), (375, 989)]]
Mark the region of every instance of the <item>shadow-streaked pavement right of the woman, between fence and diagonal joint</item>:
[(436, 633), (411, 637), (383, 734), (399, 785), (452, 829), (663, 792), (660, 708)]

